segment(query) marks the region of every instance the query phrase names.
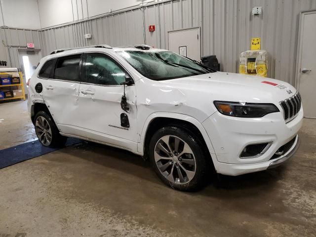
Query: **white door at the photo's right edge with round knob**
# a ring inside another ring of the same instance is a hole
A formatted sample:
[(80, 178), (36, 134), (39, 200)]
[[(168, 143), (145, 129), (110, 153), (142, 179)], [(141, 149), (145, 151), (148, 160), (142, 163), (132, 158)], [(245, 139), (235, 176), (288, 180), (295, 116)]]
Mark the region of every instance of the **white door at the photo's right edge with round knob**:
[(304, 116), (316, 118), (316, 12), (306, 12), (301, 21), (301, 63), (299, 65), (299, 91)]

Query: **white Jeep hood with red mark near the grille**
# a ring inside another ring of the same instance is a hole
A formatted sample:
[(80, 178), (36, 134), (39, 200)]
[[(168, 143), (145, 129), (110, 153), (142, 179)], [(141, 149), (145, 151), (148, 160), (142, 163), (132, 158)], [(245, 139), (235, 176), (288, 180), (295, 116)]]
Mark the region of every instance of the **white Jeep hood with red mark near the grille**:
[(188, 94), (206, 92), (213, 100), (248, 103), (276, 104), (296, 93), (296, 89), (284, 81), (223, 72), (160, 81), (160, 85), (179, 89), (184, 94), (186, 91)]

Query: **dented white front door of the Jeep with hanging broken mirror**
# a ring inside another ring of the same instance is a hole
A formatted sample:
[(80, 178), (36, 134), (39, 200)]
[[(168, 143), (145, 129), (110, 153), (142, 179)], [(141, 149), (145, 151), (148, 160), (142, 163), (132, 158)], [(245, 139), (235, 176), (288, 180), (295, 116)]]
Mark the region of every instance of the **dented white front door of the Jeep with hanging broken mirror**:
[[(86, 53), (79, 89), (80, 124), (84, 136), (107, 144), (136, 150), (136, 88), (125, 86), (128, 113), (121, 109), (126, 71), (104, 53)], [(129, 127), (121, 126), (126, 114)]]

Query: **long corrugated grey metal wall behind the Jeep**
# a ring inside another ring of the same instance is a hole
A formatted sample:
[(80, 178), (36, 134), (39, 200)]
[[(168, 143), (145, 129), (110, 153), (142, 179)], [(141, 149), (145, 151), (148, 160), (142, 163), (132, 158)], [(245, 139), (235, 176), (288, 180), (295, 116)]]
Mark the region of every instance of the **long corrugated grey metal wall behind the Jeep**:
[[(261, 15), (251, 15), (254, 6), (262, 6)], [(261, 48), (270, 54), (270, 77), (294, 84), (299, 12), (313, 8), (316, 0), (165, 1), (41, 31), (42, 55), (100, 43), (147, 43), (168, 49), (168, 31), (200, 27), (201, 55), (216, 55), (221, 70), (237, 72), (239, 53), (250, 48), (252, 37), (261, 37)], [(156, 25), (156, 31), (149, 32), (149, 25)], [(92, 39), (84, 39), (87, 33)]]

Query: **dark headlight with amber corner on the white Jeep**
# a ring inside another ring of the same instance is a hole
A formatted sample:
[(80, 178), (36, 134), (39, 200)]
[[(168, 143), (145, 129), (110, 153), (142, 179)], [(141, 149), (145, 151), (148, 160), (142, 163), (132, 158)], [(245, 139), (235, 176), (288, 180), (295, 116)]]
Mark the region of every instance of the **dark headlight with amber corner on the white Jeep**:
[(274, 104), (214, 101), (214, 105), (223, 115), (243, 118), (261, 118), (267, 114), (279, 112)]

